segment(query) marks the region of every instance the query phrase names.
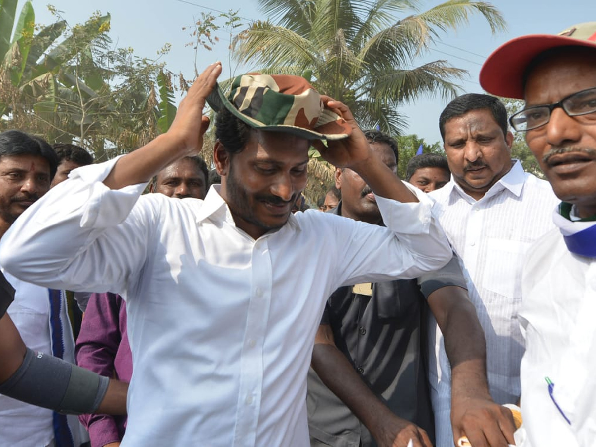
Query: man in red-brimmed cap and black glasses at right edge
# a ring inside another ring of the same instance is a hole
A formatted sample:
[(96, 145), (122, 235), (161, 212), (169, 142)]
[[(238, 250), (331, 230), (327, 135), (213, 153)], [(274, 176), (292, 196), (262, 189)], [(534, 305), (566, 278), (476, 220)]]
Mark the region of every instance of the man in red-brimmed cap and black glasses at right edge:
[(522, 429), (517, 445), (596, 439), (596, 22), (513, 39), (480, 72), (489, 93), (526, 101), (510, 118), (557, 197), (558, 227), (530, 250), (519, 319)]

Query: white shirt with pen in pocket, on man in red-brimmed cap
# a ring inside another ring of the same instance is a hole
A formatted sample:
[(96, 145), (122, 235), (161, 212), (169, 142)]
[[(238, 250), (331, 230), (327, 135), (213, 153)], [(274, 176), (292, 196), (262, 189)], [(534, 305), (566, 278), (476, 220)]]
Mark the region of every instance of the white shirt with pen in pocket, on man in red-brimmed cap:
[[(596, 442), (596, 262), (567, 250), (563, 235), (595, 222), (570, 222), (557, 212), (555, 229), (529, 253), (520, 324), (523, 447), (592, 446)], [(553, 396), (571, 426), (550, 398)]]

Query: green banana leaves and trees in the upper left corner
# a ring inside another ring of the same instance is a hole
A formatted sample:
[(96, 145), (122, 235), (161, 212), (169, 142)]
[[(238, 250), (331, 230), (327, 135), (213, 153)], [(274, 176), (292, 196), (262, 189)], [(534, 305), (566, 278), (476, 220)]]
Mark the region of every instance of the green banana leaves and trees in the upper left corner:
[(8, 48), (0, 53), (0, 130), (21, 128), (50, 142), (76, 142), (97, 160), (159, 133), (154, 84), (163, 64), (136, 57), (131, 48), (114, 49), (110, 15), (97, 12), (69, 26), (54, 9), (58, 20), (36, 27), (27, 2), (11, 41), (15, 2), (0, 2), (0, 49)]

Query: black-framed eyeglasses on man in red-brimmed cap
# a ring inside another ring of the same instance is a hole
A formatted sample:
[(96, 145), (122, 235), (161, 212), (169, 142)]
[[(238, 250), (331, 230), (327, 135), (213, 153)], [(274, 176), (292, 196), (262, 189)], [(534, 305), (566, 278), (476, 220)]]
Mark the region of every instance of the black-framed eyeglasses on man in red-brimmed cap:
[(596, 87), (576, 92), (558, 103), (534, 105), (513, 114), (509, 119), (511, 127), (518, 132), (531, 131), (544, 126), (551, 119), (552, 110), (561, 107), (568, 116), (587, 115), (596, 112)]

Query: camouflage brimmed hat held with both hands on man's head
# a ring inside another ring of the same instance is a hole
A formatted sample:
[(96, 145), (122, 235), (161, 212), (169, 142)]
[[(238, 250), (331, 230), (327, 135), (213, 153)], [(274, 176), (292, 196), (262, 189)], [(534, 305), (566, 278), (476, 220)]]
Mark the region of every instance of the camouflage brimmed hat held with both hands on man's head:
[(216, 112), (227, 108), (247, 125), (263, 131), (287, 132), (306, 139), (342, 139), (352, 128), (323, 106), (321, 95), (300, 76), (241, 75), (226, 95), (219, 85), (207, 103)]

